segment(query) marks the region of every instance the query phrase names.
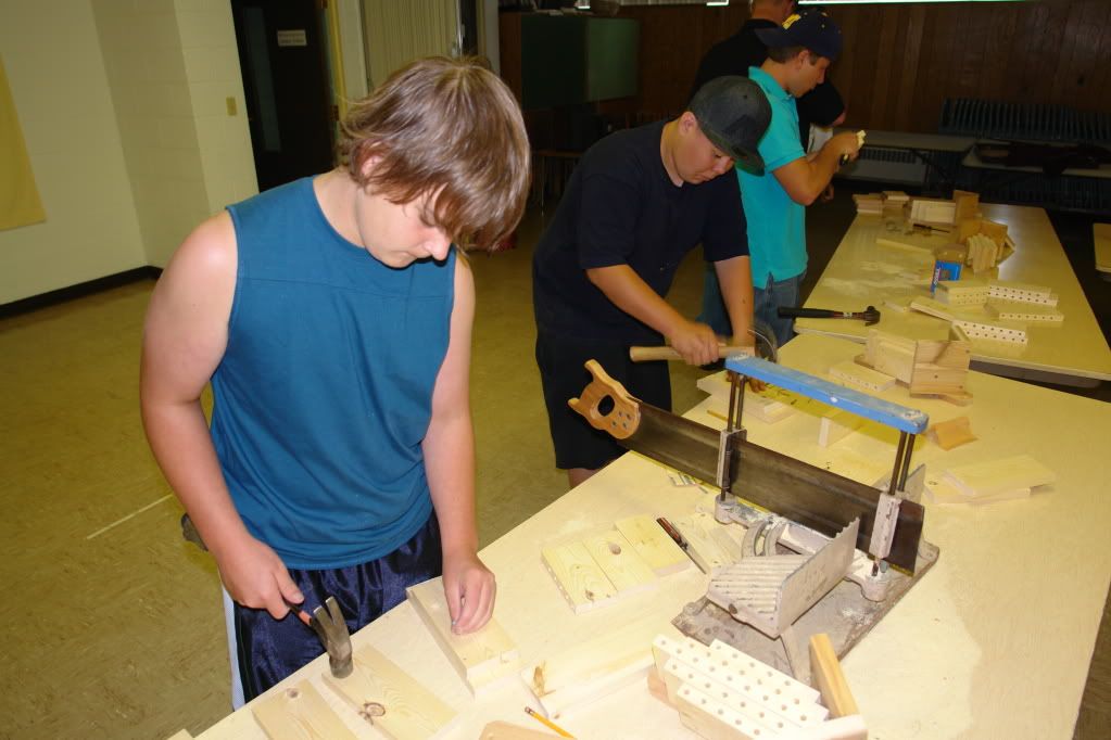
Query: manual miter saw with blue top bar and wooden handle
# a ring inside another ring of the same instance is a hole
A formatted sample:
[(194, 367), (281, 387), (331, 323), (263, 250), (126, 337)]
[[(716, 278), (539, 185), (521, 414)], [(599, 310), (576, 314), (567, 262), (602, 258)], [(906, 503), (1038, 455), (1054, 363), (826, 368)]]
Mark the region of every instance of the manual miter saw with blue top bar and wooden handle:
[[(807, 680), (811, 633), (828, 632), (843, 656), (938, 558), (922, 539), (924, 469), (910, 469), (929, 417), (757, 357), (731, 356), (725, 367), (720, 432), (641, 403), (594, 361), (593, 381), (569, 403), (622, 446), (717, 485), (713, 518), (744, 528), (739, 561), (712, 568), (707, 596), (673, 624)], [(898, 429), (890, 476), (869, 486), (749, 442), (745, 378)]]

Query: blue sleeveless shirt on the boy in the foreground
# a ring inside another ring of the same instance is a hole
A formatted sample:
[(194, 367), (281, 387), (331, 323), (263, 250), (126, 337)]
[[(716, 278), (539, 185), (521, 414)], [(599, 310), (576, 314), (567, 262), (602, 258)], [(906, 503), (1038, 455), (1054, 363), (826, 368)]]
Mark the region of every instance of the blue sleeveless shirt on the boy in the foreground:
[(432, 510), (421, 442), (454, 250), (382, 264), (332, 229), (311, 178), (228, 211), (239, 266), (211, 430), (236, 508), (291, 568), (388, 555)]

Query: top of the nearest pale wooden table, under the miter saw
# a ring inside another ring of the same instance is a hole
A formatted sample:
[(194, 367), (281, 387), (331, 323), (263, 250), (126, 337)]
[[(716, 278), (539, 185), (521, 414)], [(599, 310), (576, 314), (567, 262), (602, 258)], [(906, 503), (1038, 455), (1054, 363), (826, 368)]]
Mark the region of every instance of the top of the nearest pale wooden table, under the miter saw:
[[(783, 348), (782, 362), (819, 374), (858, 351), (848, 342), (803, 336)], [(1058, 483), (1025, 500), (983, 507), (927, 503), (924, 536), (941, 548), (938, 564), (843, 666), (871, 737), (1071, 738), (1111, 578), (1111, 407), (981, 373), (970, 374), (969, 384), (975, 403), (968, 408), (911, 401), (900, 388), (883, 394), (933, 420), (971, 417), (979, 442), (943, 453), (919, 440), (915, 463), (927, 463), (932, 479), (942, 463), (1029, 453), (1054, 468)], [(711, 397), (689, 416), (719, 426), (707, 412), (722, 406)], [(868, 428), (823, 449), (815, 444), (818, 426), (817, 417), (802, 412), (775, 425), (747, 420), (757, 444), (869, 483), (887, 472), (894, 433)], [(662, 466), (629, 454), (486, 548), (482, 557), (499, 582), (497, 618), (518, 641), (523, 661), (630, 625), (645, 646), (655, 632), (673, 633), (670, 619), (704, 592), (707, 577), (697, 569), (668, 576), (654, 591), (574, 616), (541, 566), (540, 550), (625, 516), (712, 508), (712, 498), (697, 487), (674, 487)], [(472, 700), (408, 604), (353, 639), (357, 648), (374, 645), (458, 709), (452, 738), (476, 738), (496, 719), (534, 724), (522, 708), (536, 703), (517, 680)], [(378, 737), (321, 685), (327, 670), (322, 657), (276, 690), (310, 679), (360, 737)], [(640, 682), (559, 722), (579, 738), (694, 737)], [(202, 737), (264, 736), (248, 707)]]

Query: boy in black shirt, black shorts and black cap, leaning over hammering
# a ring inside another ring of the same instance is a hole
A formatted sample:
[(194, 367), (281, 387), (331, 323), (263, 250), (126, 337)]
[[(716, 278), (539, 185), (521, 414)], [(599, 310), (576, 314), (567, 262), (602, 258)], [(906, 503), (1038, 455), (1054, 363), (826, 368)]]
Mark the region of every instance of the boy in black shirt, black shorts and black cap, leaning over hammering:
[[(722, 77), (678, 119), (619, 131), (582, 156), (532, 262), (537, 363), (556, 447), (572, 486), (623, 452), (568, 407), (597, 359), (633, 396), (670, 409), (667, 363), (629, 359), (664, 339), (688, 363), (718, 358), (709, 326), (663, 296), (698, 244), (714, 263), (733, 326), (751, 345), (752, 280), (734, 161), (761, 171), (757, 143), (771, 110), (760, 88)], [(727, 174), (722, 178), (720, 175)]]

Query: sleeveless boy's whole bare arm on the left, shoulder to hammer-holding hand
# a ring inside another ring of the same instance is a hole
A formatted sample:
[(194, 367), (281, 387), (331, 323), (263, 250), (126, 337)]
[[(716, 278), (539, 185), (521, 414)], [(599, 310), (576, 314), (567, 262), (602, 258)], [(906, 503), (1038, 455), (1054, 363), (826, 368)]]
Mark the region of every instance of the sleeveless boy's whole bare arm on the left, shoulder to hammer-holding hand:
[[(151, 450), (216, 557), (231, 597), (284, 617), (303, 600), (278, 555), (243, 526), (228, 494), (200, 396), (228, 342), (236, 235), (228, 213), (191, 233), (163, 271), (147, 310), (140, 404)], [(284, 600), (283, 600), (284, 599)]]

